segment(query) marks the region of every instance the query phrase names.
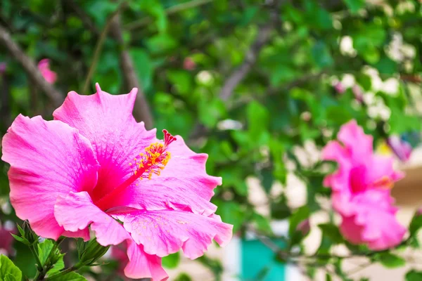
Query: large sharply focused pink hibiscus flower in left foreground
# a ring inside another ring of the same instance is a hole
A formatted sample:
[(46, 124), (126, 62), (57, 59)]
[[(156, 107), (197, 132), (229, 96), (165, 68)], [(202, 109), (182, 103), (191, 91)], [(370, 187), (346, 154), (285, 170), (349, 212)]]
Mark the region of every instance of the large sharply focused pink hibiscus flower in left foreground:
[(162, 256), (182, 249), (196, 259), (212, 239), (231, 239), (210, 203), (222, 179), (206, 174), (207, 155), (180, 136), (164, 131), (159, 141), (135, 121), (137, 89), (96, 89), (68, 93), (53, 121), (16, 117), (3, 138), (11, 203), (42, 237), (89, 240), (90, 227), (103, 246), (126, 241), (127, 277), (166, 280)]

